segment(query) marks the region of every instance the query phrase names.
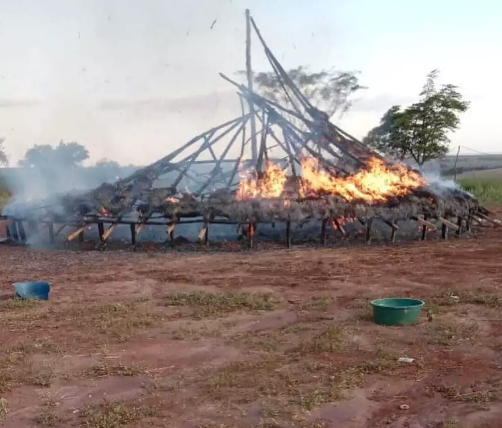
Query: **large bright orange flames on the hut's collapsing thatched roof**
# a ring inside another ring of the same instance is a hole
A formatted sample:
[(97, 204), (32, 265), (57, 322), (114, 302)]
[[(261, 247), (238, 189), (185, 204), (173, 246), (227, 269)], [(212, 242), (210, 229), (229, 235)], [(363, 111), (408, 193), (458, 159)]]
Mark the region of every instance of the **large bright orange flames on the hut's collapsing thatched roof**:
[[(383, 202), (390, 197), (403, 196), (424, 184), (424, 177), (404, 165), (387, 165), (383, 160), (371, 158), (366, 168), (345, 177), (336, 177), (322, 168), (313, 157), (301, 160), (302, 181), (299, 196), (316, 197), (332, 194), (347, 201), (364, 200)], [(284, 195), (286, 172), (269, 162), (261, 177), (242, 177), (237, 199), (274, 198)]]

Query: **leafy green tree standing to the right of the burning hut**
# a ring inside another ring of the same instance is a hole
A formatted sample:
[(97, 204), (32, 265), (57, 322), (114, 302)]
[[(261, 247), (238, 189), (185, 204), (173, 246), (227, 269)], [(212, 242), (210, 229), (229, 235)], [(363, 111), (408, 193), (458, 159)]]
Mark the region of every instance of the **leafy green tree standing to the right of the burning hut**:
[(363, 142), (400, 159), (412, 158), (420, 166), (445, 155), (450, 144), (448, 134), (458, 129), (459, 114), (467, 111), (469, 102), (457, 86), (438, 88), (438, 76), (438, 70), (430, 72), (420, 100), (404, 110), (391, 107)]

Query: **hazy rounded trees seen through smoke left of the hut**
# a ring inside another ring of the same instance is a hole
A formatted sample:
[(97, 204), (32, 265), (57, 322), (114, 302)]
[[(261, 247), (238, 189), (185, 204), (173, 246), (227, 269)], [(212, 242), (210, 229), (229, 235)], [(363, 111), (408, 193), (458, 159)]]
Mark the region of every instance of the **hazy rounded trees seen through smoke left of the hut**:
[(83, 145), (61, 140), (56, 147), (49, 144), (34, 145), (26, 151), (19, 165), (38, 168), (72, 167), (80, 165), (88, 157), (89, 152)]

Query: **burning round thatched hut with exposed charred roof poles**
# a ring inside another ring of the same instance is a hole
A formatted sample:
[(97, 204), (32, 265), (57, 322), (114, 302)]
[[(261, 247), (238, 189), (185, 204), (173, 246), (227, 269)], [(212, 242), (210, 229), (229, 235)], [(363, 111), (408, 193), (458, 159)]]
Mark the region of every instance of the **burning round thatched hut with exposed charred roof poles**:
[[(393, 241), (400, 221), (418, 222), (422, 239), (438, 226), (446, 238), (449, 229), (457, 235), (468, 231), (473, 220), (497, 225), (472, 195), (428, 183), (419, 171), (382, 157), (331, 123), (288, 77), (248, 13), (246, 18), (248, 85), (221, 74), (237, 90), (240, 116), (113, 184), (55, 196), (53, 202), (23, 209), (22, 215), (11, 212), (5, 218), (10, 238), (25, 241), (25, 226), (29, 235), (45, 224), (50, 241), (66, 227), (74, 228), (67, 241), (82, 240), (84, 231), (97, 225), (104, 243), (117, 225), (127, 224), (133, 245), (146, 225), (166, 227), (174, 242), (177, 225), (200, 223), (199, 238), (206, 242), (210, 224), (245, 225), (252, 245), (259, 224), (284, 222), (289, 246), (291, 224), (311, 220), (320, 222), (323, 243), (327, 226), (345, 235), (346, 221), (359, 222), (369, 240), (372, 222), (379, 219)], [(253, 91), (251, 27), (292, 108)], [(166, 175), (168, 182), (159, 185)], [(191, 191), (180, 191), (187, 186)]]

